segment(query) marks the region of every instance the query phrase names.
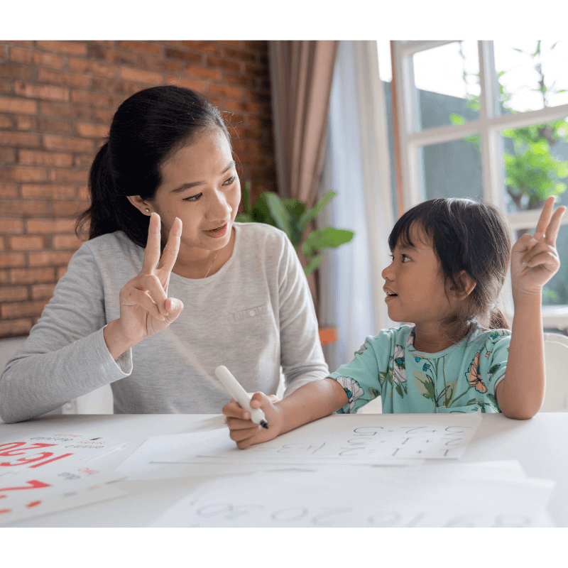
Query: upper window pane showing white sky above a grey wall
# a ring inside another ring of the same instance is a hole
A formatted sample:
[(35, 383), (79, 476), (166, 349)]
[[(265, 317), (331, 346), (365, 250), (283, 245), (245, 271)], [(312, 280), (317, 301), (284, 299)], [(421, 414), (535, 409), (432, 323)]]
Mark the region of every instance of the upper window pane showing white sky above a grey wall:
[(417, 130), (462, 124), (479, 115), (476, 41), (454, 41), (413, 55)]

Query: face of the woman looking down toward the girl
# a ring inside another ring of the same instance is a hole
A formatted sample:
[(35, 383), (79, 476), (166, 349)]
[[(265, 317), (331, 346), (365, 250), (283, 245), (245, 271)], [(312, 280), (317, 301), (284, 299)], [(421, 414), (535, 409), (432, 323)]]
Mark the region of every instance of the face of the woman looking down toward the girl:
[(226, 246), (241, 202), (241, 184), (224, 133), (218, 128), (200, 133), (190, 146), (175, 152), (161, 172), (162, 183), (150, 203), (162, 219), (163, 240), (179, 217), (180, 254), (202, 256)]

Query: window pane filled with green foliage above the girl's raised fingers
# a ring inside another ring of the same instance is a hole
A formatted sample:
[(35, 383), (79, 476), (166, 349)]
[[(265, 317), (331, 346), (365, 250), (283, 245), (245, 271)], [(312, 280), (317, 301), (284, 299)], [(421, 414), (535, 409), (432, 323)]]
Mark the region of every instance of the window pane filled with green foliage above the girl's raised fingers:
[(568, 119), (506, 129), (501, 136), (506, 212), (540, 209), (550, 195), (566, 195)]

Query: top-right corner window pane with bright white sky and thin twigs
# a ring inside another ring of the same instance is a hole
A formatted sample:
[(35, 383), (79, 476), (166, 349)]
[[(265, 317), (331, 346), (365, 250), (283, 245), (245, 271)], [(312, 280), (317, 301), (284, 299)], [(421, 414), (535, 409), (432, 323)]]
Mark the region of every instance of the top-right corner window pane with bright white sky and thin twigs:
[(498, 112), (526, 112), (568, 103), (568, 42), (495, 40)]

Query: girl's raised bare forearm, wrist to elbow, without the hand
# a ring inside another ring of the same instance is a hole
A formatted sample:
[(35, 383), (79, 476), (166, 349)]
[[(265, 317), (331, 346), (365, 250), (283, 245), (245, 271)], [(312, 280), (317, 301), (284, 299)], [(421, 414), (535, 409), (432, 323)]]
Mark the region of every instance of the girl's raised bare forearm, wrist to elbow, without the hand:
[(497, 402), (510, 418), (532, 418), (545, 398), (545, 346), (541, 297), (515, 299), (506, 378), (497, 386)]

